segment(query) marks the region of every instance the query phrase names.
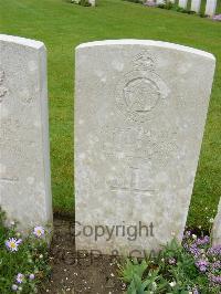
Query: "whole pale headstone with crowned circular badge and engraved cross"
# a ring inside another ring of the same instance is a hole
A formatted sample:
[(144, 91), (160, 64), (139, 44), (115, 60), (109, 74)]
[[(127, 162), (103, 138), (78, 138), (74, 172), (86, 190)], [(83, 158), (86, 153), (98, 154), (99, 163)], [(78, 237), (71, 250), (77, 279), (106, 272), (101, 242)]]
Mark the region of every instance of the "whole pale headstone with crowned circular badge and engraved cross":
[(139, 255), (182, 239), (214, 64), (157, 41), (76, 48), (78, 250)]

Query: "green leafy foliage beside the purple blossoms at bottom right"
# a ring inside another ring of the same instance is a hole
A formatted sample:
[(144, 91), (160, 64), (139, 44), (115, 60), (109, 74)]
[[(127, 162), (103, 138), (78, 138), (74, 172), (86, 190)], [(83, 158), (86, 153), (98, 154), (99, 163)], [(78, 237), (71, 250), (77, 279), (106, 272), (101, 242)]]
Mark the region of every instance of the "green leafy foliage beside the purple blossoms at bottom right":
[(128, 284), (128, 294), (220, 293), (219, 286), (209, 284), (207, 275), (196, 266), (194, 258), (176, 240), (147, 261), (127, 260), (120, 269), (120, 276)]

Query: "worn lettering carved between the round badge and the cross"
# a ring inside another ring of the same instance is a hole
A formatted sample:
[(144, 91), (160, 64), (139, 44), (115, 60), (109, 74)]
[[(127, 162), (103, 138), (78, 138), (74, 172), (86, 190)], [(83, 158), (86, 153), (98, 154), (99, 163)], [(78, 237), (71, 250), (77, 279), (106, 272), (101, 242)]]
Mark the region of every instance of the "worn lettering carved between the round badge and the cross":
[(107, 157), (147, 159), (164, 167), (176, 151), (176, 130), (156, 132), (144, 127), (105, 127), (102, 149)]

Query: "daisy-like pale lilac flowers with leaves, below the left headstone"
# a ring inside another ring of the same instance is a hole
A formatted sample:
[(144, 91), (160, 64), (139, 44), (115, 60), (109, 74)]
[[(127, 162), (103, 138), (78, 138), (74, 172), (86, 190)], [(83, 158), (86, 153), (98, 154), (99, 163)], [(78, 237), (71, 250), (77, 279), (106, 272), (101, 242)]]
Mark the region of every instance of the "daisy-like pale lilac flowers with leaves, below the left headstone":
[(0, 293), (36, 293), (51, 270), (46, 234), (44, 228), (35, 227), (23, 238), (15, 222), (6, 225), (0, 209)]

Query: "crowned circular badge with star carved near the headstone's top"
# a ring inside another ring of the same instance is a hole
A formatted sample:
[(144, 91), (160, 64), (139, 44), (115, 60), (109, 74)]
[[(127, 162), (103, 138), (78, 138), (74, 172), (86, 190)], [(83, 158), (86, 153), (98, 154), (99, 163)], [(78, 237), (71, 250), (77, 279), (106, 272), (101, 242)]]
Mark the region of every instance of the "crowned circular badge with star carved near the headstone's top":
[(116, 87), (116, 104), (127, 118), (144, 123), (168, 95), (164, 81), (155, 72), (155, 59), (148, 51), (136, 55), (134, 70)]

